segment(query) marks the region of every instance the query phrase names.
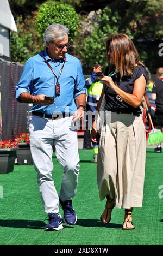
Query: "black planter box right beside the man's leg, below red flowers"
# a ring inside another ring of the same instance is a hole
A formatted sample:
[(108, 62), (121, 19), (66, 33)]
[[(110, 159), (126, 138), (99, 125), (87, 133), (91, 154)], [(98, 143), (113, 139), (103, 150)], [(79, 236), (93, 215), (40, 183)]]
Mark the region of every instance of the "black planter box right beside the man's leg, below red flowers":
[(27, 143), (18, 144), (16, 157), (18, 164), (33, 164), (33, 159), (30, 152), (30, 145)]

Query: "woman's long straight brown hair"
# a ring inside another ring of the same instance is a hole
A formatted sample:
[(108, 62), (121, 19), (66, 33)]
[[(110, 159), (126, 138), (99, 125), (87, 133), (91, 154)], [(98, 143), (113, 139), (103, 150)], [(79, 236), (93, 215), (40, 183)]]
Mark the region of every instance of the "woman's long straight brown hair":
[[(139, 54), (135, 48), (133, 41), (126, 34), (112, 35), (106, 41), (106, 50), (112, 51), (113, 62), (116, 71), (120, 72), (120, 76), (131, 76), (134, 73), (136, 65), (144, 66), (140, 61)], [(109, 56), (108, 56), (109, 58)]]

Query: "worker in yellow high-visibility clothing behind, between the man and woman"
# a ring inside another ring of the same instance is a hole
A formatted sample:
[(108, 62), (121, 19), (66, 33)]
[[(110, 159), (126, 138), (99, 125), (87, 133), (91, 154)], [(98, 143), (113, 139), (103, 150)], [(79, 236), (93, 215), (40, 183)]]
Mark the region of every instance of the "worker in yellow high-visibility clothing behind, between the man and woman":
[[(102, 72), (102, 67), (99, 64), (96, 64), (92, 68), (92, 75), (90, 78), (87, 78), (85, 81), (85, 87), (87, 88), (87, 102), (86, 102), (86, 111), (94, 112), (96, 111), (96, 106), (99, 100), (99, 97), (102, 93), (103, 83), (99, 80), (97, 76), (97, 72)], [(93, 118), (92, 118), (93, 119)], [(88, 120), (87, 124), (89, 124)], [(93, 120), (92, 120), (93, 121)], [(90, 122), (91, 123), (91, 122)], [(91, 149), (91, 128), (92, 127), (86, 127), (85, 133), (84, 133), (84, 144), (83, 149)], [(93, 162), (97, 163), (97, 154), (98, 154), (98, 144), (93, 144)]]

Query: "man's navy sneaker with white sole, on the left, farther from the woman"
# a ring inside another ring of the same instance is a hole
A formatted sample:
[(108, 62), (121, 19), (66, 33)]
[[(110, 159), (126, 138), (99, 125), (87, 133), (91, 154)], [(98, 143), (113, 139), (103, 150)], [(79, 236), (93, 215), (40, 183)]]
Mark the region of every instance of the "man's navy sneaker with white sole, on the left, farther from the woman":
[(60, 230), (62, 226), (62, 220), (57, 213), (49, 213), (49, 224), (46, 225), (45, 230)]

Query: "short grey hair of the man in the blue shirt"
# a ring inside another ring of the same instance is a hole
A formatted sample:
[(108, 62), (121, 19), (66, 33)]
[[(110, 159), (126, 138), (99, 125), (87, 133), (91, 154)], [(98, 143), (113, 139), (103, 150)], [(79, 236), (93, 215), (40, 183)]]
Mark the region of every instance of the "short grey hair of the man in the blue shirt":
[(53, 40), (62, 40), (68, 34), (68, 28), (64, 25), (53, 23), (52, 25), (48, 26), (44, 35), (43, 41), (45, 46), (47, 46), (46, 42), (52, 43)]

